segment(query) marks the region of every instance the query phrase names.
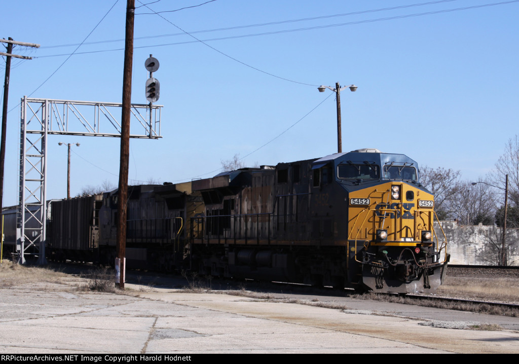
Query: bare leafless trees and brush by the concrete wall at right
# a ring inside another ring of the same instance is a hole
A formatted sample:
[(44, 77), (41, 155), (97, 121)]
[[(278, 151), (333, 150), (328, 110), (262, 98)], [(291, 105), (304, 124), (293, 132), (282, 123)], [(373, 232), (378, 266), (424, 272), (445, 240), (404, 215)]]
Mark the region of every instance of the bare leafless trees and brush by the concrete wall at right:
[[(504, 200), (508, 175), (506, 231)], [(494, 170), (478, 181), (461, 178), (461, 172), (443, 167), (420, 169), (421, 184), (434, 194), (438, 220), (455, 220), (462, 225), (490, 225), (485, 235), (484, 255), (489, 264), (513, 265), (517, 241), (509, 228), (519, 228), (519, 135), (511, 138)]]

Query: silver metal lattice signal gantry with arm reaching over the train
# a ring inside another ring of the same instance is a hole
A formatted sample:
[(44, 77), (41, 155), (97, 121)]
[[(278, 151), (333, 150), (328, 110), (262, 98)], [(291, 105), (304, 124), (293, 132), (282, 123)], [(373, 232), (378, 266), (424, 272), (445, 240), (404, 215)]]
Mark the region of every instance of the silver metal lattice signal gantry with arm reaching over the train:
[[(52, 134), (120, 137), (121, 103), (50, 99), (21, 100), (20, 180), (16, 226), (19, 263), (25, 254), (45, 260), (47, 137)], [(131, 105), (130, 138), (158, 139), (162, 105)], [(88, 115), (92, 115), (87, 117)], [(149, 112), (149, 116), (147, 113)], [(132, 133), (134, 132), (134, 133)]]

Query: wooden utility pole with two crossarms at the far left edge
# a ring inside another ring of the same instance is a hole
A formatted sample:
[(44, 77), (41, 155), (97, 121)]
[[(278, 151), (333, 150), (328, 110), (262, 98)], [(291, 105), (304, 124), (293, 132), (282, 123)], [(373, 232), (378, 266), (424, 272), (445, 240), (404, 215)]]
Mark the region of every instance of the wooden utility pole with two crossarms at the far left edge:
[(39, 44), (15, 42), (11, 37), (0, 39), (0, 43), (7, 43), (7, 53), (0, 52), (0, 56), (6, 56), (5, 61), (5, 81), (4, 81), (4, 106), (2, 110), (2, 136), (0, 140), (0, 209), (4, 207), (4, 164), (5, 164), (5, 142), (7, 132), (7, 101), (9, 95), (9, 78), (11, 76), (11, 57), (32, 59), (32, 57), (25, 57), (12, 54), (13, 45), (21, 45), (38, 48)]

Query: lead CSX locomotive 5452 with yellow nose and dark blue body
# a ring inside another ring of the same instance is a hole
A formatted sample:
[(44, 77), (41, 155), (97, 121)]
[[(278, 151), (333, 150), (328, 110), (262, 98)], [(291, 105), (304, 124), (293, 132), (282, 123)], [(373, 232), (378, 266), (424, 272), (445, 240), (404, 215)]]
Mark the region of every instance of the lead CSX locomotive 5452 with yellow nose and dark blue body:
[(418, 292), (441, 284), (446, 241), (417, 163), (365, 149), (193, 181), (192, 266), (204, 274)]

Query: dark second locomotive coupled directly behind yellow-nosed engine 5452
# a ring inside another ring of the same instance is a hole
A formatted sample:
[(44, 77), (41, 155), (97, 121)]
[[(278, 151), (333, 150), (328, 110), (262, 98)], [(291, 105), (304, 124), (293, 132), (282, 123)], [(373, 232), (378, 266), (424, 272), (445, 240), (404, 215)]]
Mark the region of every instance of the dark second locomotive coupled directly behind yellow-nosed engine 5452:
[[(186, 269), (191, 218), (203, 214), (192, 182), (128, 187), (126, 266), (171, 272)], [(102, 261), (116, 257), (118, 190), (103, 196), (99, 251)]]

